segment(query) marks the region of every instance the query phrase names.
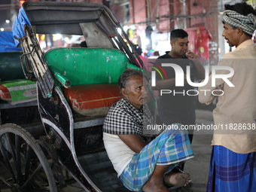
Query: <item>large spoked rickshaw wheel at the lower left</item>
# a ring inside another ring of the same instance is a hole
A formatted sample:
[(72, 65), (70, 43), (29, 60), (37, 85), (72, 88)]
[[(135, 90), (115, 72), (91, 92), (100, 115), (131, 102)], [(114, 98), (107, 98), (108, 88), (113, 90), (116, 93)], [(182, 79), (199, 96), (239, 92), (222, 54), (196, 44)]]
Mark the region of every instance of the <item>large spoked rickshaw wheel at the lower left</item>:
[(5, 169), (0, 177), (1, 188), (15, 192), (57, 191), (47, 158), (29, 132), (13, 123), (2, 125), (0, 148), (0, 167)]

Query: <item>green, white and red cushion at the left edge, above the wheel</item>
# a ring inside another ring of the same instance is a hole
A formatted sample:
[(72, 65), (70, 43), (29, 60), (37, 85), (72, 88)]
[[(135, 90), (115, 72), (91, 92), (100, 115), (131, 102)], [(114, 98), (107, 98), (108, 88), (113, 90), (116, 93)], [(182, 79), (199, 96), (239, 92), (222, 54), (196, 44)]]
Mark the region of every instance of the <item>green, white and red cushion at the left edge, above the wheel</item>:
[(36, 82), (16, 79), (0, 82), (0, 99), (7, 102), (26, 102), (36, 99)]

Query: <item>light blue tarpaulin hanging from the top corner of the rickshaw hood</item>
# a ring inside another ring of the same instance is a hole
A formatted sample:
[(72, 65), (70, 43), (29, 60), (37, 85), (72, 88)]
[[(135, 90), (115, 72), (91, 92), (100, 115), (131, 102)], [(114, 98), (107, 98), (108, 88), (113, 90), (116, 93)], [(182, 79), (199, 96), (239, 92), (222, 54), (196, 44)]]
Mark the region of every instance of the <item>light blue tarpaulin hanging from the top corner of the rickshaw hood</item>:
[(14, 41), (17, 47), (20, 45), (19, 39), (26, 36), (24, 31), (25, 26), (31, 26), (31, 23), (22, 7), (20, 8), (19, 14), (16, 16), (13, 25)]

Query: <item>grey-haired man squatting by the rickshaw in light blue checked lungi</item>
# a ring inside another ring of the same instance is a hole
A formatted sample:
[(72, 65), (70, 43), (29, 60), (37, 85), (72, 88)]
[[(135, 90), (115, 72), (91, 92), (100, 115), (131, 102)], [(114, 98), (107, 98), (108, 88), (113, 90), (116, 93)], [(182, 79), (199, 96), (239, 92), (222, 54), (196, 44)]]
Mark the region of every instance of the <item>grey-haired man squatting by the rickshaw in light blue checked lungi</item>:
[(143, 105), (148, 90), (142, 72), (127, 69), (120, 75), (118, 86), (123, 99), (108, 111), (103, 141), (120, 181), (129, 190), (145, 192), (167, 192), (169, 185), (186, 186), (190, 175), (171, 170), (194, 157), (187, 131), (164, 130), (150, 142), (143, 131), (145, 117), (150, 117)]

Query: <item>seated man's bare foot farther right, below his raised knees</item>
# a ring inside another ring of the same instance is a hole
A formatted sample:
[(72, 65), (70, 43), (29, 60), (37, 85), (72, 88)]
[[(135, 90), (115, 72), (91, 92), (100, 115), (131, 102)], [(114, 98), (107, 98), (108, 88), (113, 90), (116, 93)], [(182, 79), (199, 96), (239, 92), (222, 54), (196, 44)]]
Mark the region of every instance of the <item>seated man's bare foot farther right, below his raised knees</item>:
[(190, 180), (190, 175), (182, 172), (169, 172), (164, 176), (163, 180), (166, 184), (182, 187), (187, 186), (188, 181)]

